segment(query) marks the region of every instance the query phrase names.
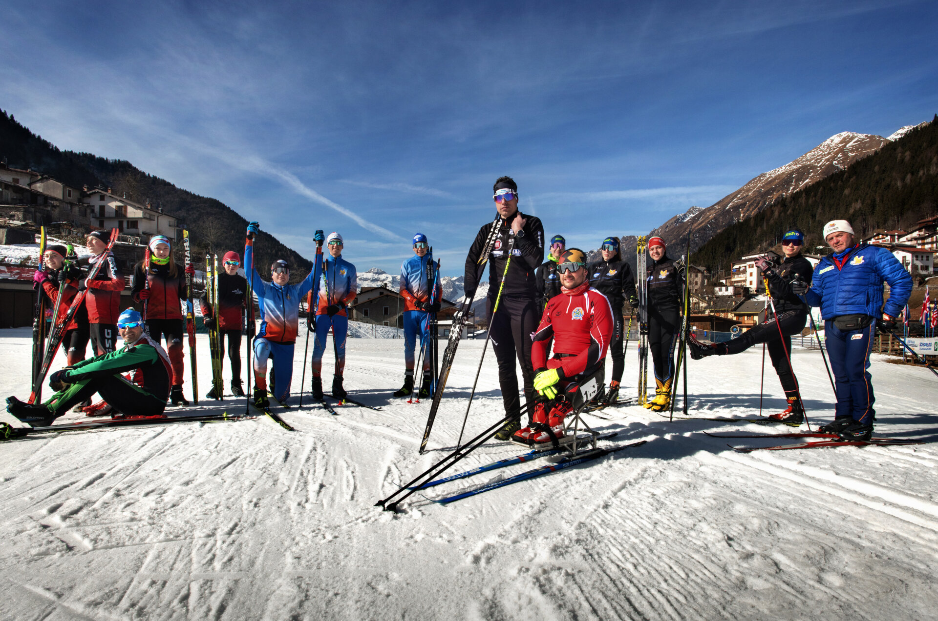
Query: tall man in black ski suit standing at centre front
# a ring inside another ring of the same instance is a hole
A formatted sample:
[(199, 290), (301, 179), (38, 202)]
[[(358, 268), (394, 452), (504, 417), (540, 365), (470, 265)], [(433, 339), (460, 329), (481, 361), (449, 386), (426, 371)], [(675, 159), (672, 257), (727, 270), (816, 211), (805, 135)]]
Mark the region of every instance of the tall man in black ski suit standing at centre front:
[[(522, 366), (524, 400), (528, 418), (534, 412), (534, 369), (531, 367), (531, 334), (537, 330), (539, 319), (535, 269), (544, 260), (544, 227), (534, 215), (525, 216), (518, 211), (518, 185), (511, 177), (499, 177), (492, 188), (495, 209), (501, 218), (478, 230), (476, 241), (469, 249), (465, 265), (465, 294), (472, 296), (478, 287), (477, 262), (492, 226), (498, 226), (498, 236), (492, 246), (489, 267), (489, 295), (486, 316), (492, 348), (498, 360), (498, 382), (502, 389), (502, 402), (510, 420), (496, 434), (507, 440), (521, 429), (521, 399), (518, 394), (518, 375), (515, 360)], [(510, 255), (508, 254), (510, 249)], [(508, 258), (511, 258), (510, 264)], [(505, 268), (508, 267), (506, 272)], [(501, 300), (497, 312), (492, 314), (502, 278)]]

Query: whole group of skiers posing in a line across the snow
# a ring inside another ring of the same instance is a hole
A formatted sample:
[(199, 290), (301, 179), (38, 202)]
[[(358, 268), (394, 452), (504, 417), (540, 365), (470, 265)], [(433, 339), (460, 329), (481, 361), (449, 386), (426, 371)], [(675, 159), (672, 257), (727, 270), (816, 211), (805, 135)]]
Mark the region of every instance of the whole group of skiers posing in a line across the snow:
[[(496, 437), (526, 443), (556, 442), (564, 435), (566, 417), (584, 405), (580, 388), (587, 382), (598, 387), (592, 396), (594, 402), (618, 401), (628, 338), (623, 311), (627, 302), (633, 308), (640, 305), (639, 288), (628, 261), (621, 255), (619, 239), (614, 236), (600, 244), (601, 259), (587, 264), (582, 250), (567, 248), (564, 237), (555, 235), (548, 259), (543, 260), (543, 226), (536, 216), (519, 211), (518, 186), (514, 180), (500, 177), (492, 189), (498, 217), (479, 229), (469, 249), (464, 290), (467, 300), (474, 297), (488, 264), (486, 316), (507, 414), (507, 423)], [(268, 408), (269, 393), (281, 405), (287, 402), (300, 303), (305, 300), (310, 332), (315, 334), (311, 364), (313, 398), (324, 399), (322, 360), (331, 331), (336, 358), (331, 395), (344, 399), (347, 306), (356, 298), (357, 283), (355, 265), (341, 256), (341, 235), (333, 232), (326, 238), (322, 230), (317, 230), (313, 236), (317, 244), (313, 269), (304, 280), (290, 285), (290, 265), (285, 260), (270, 266), (269, 281), (254, 269), (253, 238), (259, 231), (259, 224), (251, 222), (244, 249), (247, 278), (238, 274), (241, 267), (238, 253), (230, 251), (224, 255), (224, 272), (218, 274), (218, 316), (207, 298), (200, 301), (205, 325), (217, 328), (222, 336), (219, 350), (223, 337), (228, 339), (232, 392), (244, 395), (240, 343), (242, 314), (248, 313), (249, 338), (253, 339), (251, 401), (256, 407)], [(791, 363), (791, 336), (805, 328), (809, 306), (820, 306), (837, 393), (837, 418), (822, 429), (848, 438), (869, 438), (875, 413), (867, 370), (872, 337), (877, 326), (887, 331), (895, 327), (894, 318), (909, 297), (912, 280), (888, 250), (857, 243), (854, 230), (845, 220), (828, 222), (824, 235), (834, 253), (821, 259), (813, 269), (801, 254), (805, 236), (798, 229), (784, 234), (783, 257), (769, 254), (757, 261), (769, 300), (764, 316), (749, 331), (716, 344), (699, 342), (691, 331), (682, 334), (682, 308), (688, 308), (683, 300), (687, 266), (683, 259), (675, 261), (668, 256), (663, 239), (648, 239), (651, 261), (646, 273), (639, 274), (644, 281), (642, 290), (646, 291), (642, 315), (646, 321), (639, 330), (647, 335), (656, 395), (645, 407), (656, 411), (670, 407), (674, 354), (682, 341), (687, 343), (694, 360), (732, 355), (764, 343), (788, 401), (784, 411), (769, 418), (800, 423), (804, 420), (804, 406)], [(68, 257), (67, 249), (60, 245), (47, 249), (44, 267), (35, 274), (37, 287), (43, 288), (53, 302), (60, 292), (63, 296), (55, 321), (66, 318), (70, 301), (80, 291), (86, 288), (87, 293), (62, 340), (68, 364), (50, 376), (57, 392), (44, 404), (26, 404), (15, 397), (8, 400), (8, 410), (23, 421), (48, 424), (69, 407), (83, 409), (89, 416), (112, 410), (120, 416), (141, 412), (159, 415), (167, 401), (188, 404), (182, 394), (186, 330), (181, 308), (187, 298), (185, 276), (191, 277), (194, 269), (174, 262), (169, 239), (153, 237), (148, 258), (133, 270), (131, 296), (141, 305), (142, 312), (127, 309), (120, 313), (120, 292), (125, 280), (113, 255), (107, 251), (107, 239), (107, 233), (100, 230), (86, 238), (91, 252), (88, 263), (93, 266), (105, 261), (103, 269), (89, 270), (93, 277), (86, 275), (79, 262)], [(325, 256), (324, 242), (328, 250)], [(442, 301), (436, 266), (428, 250), (427, 237), (417, 233), (413, 238), (414, 256), (401, 265), (405, 373), (403, 386), (394, 392), (395, 397), (408, 396), (415, 390), (416, 360), (423, 360), (420, 396), (430, 396), (432, 391), (430, 357), (415, 356), (418, 340), (421, 352), (429, 346), (430, 319), (439, 311)], [(486, 251), (488, 256), (483, 256)], [(885, 305), (884, 282), (890, 287)], [(257, 297), (261, 318), (256, 334), (250, 331), (254, 324), (252, 305), (248, 302), (251, 291)], [(454, 329), (458, 326), (454, 325)], [(114, 351), (117, 331), (124, 347)], [(165, 339), (165, 349), (159, 344), (161, 338)], [(85, 361), (84, 349), (89, 339), (96, 356)], [(607, 350), (612, 351), (613, 359), (608, 386), (604, 377)], [(522, 387), (516, 362), (522, 369)], [(123, 377), (121, 374), (126, 371), (130, 374)], [(209, 396), (220, 396), (215, 394), (216, 390), (220, 387), (213, 386)], [(91, 397), (96, 392), (103, 401), (92, 406)], [(144, 399), (139, 398), (142, 394)], [(525, 412), (527, 425), (522, 428)]]

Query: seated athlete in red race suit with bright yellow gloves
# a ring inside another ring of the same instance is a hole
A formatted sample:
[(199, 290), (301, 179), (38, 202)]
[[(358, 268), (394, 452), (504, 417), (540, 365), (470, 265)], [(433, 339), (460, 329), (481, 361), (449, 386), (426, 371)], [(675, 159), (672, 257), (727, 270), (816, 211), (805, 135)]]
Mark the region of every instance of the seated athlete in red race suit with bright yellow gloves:
[[(613, 338), (613, 307), (587, 279), (586, 256), (570, 248), (557, 261), (560, 295), (544, 308), (534, 333), (531, 362), (534, 387), (540, 393), (531, 424), (514, 435), (531, 444), (552, 442), (564, 436), (564, 419), (580, 405), (583, 381), (605, 380), (604, 363)], [(553, 356), (548, 359), (553, 344)]]

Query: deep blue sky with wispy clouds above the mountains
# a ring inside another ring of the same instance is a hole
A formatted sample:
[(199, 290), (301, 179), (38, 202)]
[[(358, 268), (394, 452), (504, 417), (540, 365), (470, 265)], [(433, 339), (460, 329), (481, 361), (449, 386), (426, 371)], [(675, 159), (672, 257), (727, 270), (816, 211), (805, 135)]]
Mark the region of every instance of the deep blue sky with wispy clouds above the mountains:
[(0, 108), (359, 270), (458, 275), (509, 174), (598, 246), (938, 111), (938, 3), (18, 3)]

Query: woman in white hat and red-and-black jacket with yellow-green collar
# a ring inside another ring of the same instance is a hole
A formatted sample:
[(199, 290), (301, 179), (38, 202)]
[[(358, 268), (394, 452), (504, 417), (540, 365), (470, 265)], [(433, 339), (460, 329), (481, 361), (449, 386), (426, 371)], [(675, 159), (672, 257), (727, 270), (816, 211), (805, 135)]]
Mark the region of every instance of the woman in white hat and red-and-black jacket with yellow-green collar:
[(173, 365), (173, 386), (170, 401), (174, 406), (189, 405), (182, 394), (183, 375), (186, 371), (183, 335), (186, 333), (182, 301), (186, 299), (186, 272), (173, 260), (170, 239), (165, 235), (154, 235), (150, 239), (150, 269), (144, 274), (144, 261), (133, 268), (133, 288), (130, 297), (142, 303), (146, 330), (154, 341), (166, 337), (166, 353)]

